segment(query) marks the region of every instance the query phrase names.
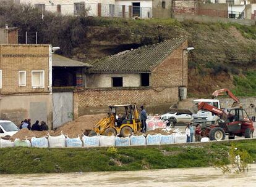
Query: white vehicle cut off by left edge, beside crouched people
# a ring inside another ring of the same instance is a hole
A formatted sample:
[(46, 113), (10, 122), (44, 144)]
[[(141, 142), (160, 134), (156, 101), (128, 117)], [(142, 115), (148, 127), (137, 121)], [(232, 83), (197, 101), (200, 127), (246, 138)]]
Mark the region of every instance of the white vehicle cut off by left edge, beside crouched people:
[(20, 129), (11, 121), (0, 120), (0, 137), (12, 136)]

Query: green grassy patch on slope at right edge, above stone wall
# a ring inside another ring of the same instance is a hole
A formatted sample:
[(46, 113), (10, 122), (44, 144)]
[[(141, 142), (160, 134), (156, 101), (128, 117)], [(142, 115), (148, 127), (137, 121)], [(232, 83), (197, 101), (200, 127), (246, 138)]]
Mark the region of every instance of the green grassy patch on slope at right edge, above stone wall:
[(234, 86), (232, 90), (236, 96), (256, 96), (256, 71), (248, 71), (241, 76), (234, 76)]

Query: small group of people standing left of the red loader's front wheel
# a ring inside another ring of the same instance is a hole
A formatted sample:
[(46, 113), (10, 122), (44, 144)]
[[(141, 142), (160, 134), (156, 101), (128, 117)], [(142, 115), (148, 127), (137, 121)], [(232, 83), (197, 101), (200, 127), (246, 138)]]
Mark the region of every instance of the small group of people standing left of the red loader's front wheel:
[(195, 125), (195, 129), (192, 123), (188, 124), (185, 129), (185, 133), (187, 135), (187, 142), (193, 142), (194, 135), (195, 135), (195, 141), (201, 141), (202, 129), (200, 124)]

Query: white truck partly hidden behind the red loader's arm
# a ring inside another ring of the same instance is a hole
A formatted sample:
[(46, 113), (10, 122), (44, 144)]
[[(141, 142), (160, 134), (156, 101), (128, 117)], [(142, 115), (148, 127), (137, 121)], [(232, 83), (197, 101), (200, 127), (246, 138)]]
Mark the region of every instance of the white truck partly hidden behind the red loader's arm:
[[(194, 104), (200, 103), (200, 102), (207, 103), (208, 105), (215, 106), (216, 108), (221, 108), (219, 100), (197, 99), (197, 100), (193, 101)], [(200, 124), (202, 126), (205, 126), (205, 125), (208, 126), (208, 125), (216, 124), (218, 119), (220, 119), (220, 117), (216, 116), (215, 114), (211, 113), (210, 111), (205, 111), (203, 109), (198, 111), (196, 114), (192, 114), (192, 121), (193, 121), (194, 125)]]

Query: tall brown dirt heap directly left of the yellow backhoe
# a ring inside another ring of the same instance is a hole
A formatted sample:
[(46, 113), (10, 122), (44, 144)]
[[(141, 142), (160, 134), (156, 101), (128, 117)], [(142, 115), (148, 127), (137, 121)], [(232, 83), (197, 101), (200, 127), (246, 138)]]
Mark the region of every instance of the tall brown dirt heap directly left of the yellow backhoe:
[(92, 130), (103, 117), (106, 117), (106, 114), (80, 116), (75, 121), (67, 122), (58, 127), (54, 132), (61, 133), (62, 131), (62, 133), (67, 134), (70, 138), (76, 138), (78, 135), (81, 136), (86, 130)]

